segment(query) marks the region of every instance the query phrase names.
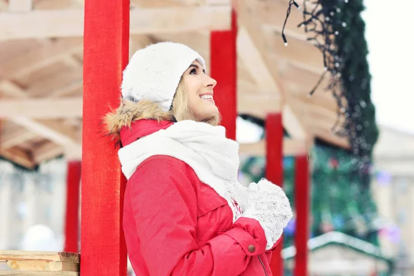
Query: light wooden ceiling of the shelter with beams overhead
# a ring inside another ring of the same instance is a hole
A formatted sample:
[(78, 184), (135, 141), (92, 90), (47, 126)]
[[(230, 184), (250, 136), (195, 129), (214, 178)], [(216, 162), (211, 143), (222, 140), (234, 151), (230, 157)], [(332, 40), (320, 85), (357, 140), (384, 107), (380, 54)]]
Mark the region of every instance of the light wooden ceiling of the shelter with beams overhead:
[[(303, 0), (302, 0), (303, 1)], [(301, 1), (298, 1), (301, 4)], [(303, 3), (302, 3), (303, 4)], [(230, 0), (131, 0), (130, 52), (149, 43), (177, 41), (210, 59), (210, 30), (230, 28)], [(235, 0), (237, 105), (266, 117), (283, 111), (292, 139), (284, 152), (304, 152), (314, 137), (347, 147), (331, 133), (336, 104), (328, 92), (308, 92), (322, 74), (322, 54), (306, 41), (293, 9), (281, 31), (288, 0)], [(83, 0), (0, 0), (0, 156), (34, 168), (66, 155), (80, 158)], [(264, 155), (264, 142), (242, 145)]]

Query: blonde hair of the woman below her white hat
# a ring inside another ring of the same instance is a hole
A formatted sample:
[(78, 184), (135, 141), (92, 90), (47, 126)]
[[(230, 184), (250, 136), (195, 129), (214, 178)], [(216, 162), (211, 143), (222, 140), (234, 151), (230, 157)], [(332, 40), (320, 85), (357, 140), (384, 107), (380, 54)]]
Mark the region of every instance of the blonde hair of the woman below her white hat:
[[(172, 100), (171, 111), (172, 116), (174, 116), (176, 121), (197, 121), (197, 118), (195, 117), (194, 113), (190, 110), (190, 108), (188, 108), (188, 95), (186, 93), (182, 77), (178, 83), (177, 90), (175, 91), (174, 99)], [(220, 113), (218, 113), (217, 115), (205, 119), (203, 121), (204, 123), (210, 124), (212, 126), (218, 126), (221, 121), (221, 115)]]

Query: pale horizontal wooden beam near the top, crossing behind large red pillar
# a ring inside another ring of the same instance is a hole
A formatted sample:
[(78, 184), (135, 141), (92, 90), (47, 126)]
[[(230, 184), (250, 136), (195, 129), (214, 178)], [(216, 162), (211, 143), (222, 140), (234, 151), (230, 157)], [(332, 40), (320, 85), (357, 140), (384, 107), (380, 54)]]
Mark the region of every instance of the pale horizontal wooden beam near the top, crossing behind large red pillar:
[[(139, 8), (130, 11), (131, 34), (229, 30), (230, 6)], [(0, 12), (0, 40), (81, 37), (83, 10)]]

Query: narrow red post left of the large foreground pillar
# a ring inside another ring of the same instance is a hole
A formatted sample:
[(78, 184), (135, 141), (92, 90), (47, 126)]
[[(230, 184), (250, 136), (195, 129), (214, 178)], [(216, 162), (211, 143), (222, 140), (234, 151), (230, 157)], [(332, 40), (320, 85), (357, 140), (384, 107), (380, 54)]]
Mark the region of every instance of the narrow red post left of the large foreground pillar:
[(68, 161), (66, 175), (66, 217), (65, 252), (78, 253), (79, 231), (79, 184), (81, 182), (81, 161)]

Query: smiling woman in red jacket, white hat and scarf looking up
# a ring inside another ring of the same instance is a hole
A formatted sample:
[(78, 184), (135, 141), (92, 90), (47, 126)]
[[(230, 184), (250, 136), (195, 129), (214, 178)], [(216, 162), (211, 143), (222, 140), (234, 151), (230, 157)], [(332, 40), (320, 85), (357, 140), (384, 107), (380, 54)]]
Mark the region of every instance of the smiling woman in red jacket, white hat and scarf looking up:
[(105, 118), (123, 146), (123, 224), (137, 275), (271, 275), (271, 250), (292, 217), (278, 186), (237, 181), (238, 144), (217, 126), (205, 68), (179, 43), (138, 50), (121, 105)]

